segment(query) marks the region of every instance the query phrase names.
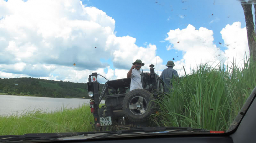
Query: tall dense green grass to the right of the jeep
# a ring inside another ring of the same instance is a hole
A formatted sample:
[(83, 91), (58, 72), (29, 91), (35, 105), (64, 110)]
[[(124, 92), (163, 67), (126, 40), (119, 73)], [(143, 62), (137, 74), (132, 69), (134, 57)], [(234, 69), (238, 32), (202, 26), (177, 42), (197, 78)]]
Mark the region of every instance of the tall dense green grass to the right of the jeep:
[(173, 80), (172, 92), (156, 101), (159, 112), (152, 120), (159, 126), (228, 129), (256, 86), (256, 63), (243, 62), (243, 67), (200, 64)]

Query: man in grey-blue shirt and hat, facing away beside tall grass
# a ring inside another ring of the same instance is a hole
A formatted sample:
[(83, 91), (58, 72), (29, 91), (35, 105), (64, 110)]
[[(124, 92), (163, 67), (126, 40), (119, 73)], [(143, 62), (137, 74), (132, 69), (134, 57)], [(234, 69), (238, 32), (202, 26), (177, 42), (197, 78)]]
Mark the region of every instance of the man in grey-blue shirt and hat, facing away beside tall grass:
[(179, 77), (179, 74), (175, 69), (173, 69), (173, 66), (175, 66), (173, 61), (168, 61), (166, 66), (167, 68), (163, 70), (160, 78), (165, 83), (165, 85), (163, 86), (163, 91), (167, 93), (170, 91), (170, 89), (173, 88), (171, 79)]

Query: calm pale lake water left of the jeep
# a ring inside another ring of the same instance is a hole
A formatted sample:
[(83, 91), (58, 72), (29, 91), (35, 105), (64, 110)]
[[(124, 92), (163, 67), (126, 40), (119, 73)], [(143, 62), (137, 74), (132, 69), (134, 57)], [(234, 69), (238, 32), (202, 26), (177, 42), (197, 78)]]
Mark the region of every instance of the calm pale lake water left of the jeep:
[(73, 109), (82, 104), (89, 104), (89, 99), (0, 95), (0, 115), (23, 114), (34, 109), (52, 112), (61, 110), (61, 106)]

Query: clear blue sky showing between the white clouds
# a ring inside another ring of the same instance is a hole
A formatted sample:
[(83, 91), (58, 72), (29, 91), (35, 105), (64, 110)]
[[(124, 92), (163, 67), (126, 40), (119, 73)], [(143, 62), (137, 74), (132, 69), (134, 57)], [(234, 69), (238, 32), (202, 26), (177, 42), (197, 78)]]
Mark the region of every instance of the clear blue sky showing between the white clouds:
[[(168, 43), (160, 42), (164, 41), (170, 29), (184, 29), (191, 24), (196, 29), (205, 27), (213, 30), (215, 44), (224, 50), (226, 48), (218, 43), (224, 43), (220, 31), (236, 21), (245, 27), (242, 6), (236, 0), (86, 0), (83, 3), (95, 6), (114, 18), (117, 36), (135, 37), (136, 45), (142, 47), (145, 43), (155, 44), (163, 63), (172, 58), (182, 59), (181, 51), (167, 51)], [(112, 65), (111, 60), (108, 63)]]

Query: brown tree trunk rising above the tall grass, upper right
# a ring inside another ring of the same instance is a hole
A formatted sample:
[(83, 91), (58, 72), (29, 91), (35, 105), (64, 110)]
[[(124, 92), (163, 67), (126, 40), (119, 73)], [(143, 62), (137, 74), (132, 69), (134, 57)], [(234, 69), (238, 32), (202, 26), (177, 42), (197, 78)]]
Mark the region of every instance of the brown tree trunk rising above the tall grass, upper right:
[[(247, 30), (247, 40), (248, 46), (250, 50), (250, 57), (253, 57), (254, 61), (256, 59), (256, 37), (254, 30), (254, 22), (253, 22), (253, 13), (252, 13), (252, 4), (247, 4), (246, 2), (241, 2), (244, 11), (245, 24)], [(254, 4), (254, 7), (256, 5)], [(255, 11), (256, 13), (256, 11)]]

